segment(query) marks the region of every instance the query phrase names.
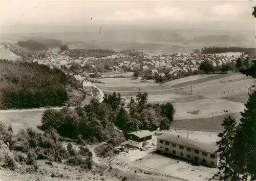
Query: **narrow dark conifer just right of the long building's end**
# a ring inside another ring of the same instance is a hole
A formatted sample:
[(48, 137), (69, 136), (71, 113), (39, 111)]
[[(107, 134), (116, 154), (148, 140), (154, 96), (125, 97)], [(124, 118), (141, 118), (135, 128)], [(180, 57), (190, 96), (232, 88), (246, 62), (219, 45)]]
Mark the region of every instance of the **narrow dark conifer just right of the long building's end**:
[(236, 131), (236, 120), (229, 115), (224, 118), (221, 125), (224, 126), (224, 131), (218, 134), (220, 141), (217, 142), (219, 149), (216, 151), (216, 153), (220, 153), (218, 176), (221, 180), (227, 180), (232, 175), (232, 170), (229, 168), (231, 163), (229, 153), (233, 142), (234, 133)]

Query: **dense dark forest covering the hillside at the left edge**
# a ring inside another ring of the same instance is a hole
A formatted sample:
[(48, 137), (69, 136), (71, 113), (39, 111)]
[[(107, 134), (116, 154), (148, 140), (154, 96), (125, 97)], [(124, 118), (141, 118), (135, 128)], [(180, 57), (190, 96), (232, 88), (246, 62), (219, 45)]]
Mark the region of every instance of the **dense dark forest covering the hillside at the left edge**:
[(1, 109), (62, 106), (68, 78), (47, 65), (1, 60)]

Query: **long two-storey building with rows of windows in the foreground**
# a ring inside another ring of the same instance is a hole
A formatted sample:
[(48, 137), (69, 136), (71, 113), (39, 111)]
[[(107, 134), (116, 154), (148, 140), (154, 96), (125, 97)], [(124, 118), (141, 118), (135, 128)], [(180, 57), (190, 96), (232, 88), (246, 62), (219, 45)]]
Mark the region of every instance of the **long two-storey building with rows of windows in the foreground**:
[(170, 133), (161, 134), (157, 138), (157, 150), (198, 161), (203, 165), (217, 167), (218, 155), (216, 145), (183, 138), (181, 135)]

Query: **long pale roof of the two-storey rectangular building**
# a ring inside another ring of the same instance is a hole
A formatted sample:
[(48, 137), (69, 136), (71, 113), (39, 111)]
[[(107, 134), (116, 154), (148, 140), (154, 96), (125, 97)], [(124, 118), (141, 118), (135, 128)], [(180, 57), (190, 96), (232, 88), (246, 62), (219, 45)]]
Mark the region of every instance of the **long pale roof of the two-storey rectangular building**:
[(208, 153), (215, 153), (215, 151), (218, 149), (216, 144), (208, 144), (196, 140), (191, 140), (185, 137), (182, 137), (181, 135), (175, 135), (171, 133), (164, 133), (161, 134), (159, 137), (157, 137), (160, 140), (169, 141), (172, 143), (176, 143), (178, 145), (190, 147), (193, 149), (198, 149), (201, 151), (205, 151)]

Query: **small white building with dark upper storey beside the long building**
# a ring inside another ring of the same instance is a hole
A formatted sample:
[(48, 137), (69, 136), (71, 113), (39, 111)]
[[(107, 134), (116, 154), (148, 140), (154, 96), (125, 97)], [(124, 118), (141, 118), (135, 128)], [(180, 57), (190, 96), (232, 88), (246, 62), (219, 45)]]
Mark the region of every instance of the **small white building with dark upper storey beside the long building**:
[(128, 144), (135, 146), (137, 148), (143, 148), (146, 145), (152, 144), (153, 133), (148, 130), (140, 130), (135, 132), (130, 132), (126, 135), (128, 139)]

